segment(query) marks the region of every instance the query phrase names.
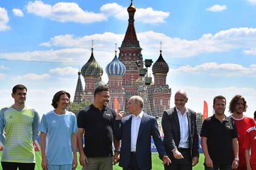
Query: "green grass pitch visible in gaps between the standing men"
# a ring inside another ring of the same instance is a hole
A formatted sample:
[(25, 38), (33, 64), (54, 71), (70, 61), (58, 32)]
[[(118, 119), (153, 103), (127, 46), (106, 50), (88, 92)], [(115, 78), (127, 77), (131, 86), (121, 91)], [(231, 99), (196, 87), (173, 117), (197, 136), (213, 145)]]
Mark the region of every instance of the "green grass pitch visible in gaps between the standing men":
[[(0, 152), (0, 157), (2, 155), (2, 152)], [(79, 160), (79, 154), (77, 154), (77, 158)], [(40, 152), (35, 152), (35, 159), (36, 159), (36, 165), (35, 165), (35, 170), (40, 170), (41, 169), (41, 153)], [(193, 170), (202, 170), (204, 169), (204, 154), (200, 154), (199, 157), (199, 163), (194, 166)], [(2, 170), (2, 167), (0, 166), (0, 169)], [(78, 163), (78, 166), (76, 169), (81, 169), (81, 166)], [(118, 165), (113, 166), (114, 170), (121, 170)], [(152, 154), (152, 169), (153, 170), (163, 170), (163, 165), (162, 161), (158, 158), (158, 154)]]

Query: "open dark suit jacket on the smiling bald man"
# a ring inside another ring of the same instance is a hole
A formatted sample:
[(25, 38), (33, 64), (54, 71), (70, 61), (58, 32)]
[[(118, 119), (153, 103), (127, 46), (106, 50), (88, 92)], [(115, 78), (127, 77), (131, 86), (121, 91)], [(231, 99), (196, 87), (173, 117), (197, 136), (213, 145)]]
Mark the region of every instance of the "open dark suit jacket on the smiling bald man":
[[(188, 109), (188, 129), (189, 129), (189, 140), (190, 140), (190, 151), (191, 157), (199, 156), (199, 137), (197, 134), (196, 126), (196, 112)], [(166, 110), (163, 112), (162, 117), (162, 128), (165, 137), (163, 142), (165, 149), (169, 157), (173, 160), (172, 150), (176, 149), (180, 143), (180, 123), (177, 114), (176, 107)]]

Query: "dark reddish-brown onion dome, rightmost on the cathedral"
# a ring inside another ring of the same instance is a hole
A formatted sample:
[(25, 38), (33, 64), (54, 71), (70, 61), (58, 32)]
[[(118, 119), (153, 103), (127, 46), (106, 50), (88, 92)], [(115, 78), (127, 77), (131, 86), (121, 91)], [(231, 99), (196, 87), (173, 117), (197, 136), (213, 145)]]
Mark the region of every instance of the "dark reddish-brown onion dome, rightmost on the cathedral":
[(169, 66), (166, 63), (166, 61), (163, 60), (162, 50), (160, 50), (160, 56), (158, 57), (157, 61), (155, 61), (155, 63), (153, 64), (152, 72), (153, 74), (155, 73), (167, 74), (169, 72)]

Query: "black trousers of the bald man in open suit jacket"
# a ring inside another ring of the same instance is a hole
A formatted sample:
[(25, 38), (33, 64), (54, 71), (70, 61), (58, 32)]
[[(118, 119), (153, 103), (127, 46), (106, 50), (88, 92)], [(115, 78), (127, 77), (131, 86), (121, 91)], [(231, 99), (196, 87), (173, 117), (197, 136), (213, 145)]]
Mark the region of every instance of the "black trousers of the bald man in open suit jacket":
[(173, 157), (172, 153), (168, 156), (171, 158), (170, 165), (164, 165), (165, 170), (192, 170), (192, 159), (190, 149), (180, 149), (178, 151), (182, 154), (183, 158), (177, 160)]

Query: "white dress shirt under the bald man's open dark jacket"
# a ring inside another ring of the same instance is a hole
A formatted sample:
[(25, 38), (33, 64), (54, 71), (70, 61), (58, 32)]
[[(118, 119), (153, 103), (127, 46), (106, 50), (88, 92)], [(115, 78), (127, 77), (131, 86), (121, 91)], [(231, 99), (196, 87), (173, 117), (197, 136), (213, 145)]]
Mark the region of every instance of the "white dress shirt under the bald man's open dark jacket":
[(179, 124), (180, 124), (180, 143), (178, 148), (190, 148), (190, 141), (188, 139), (190, 133), (188, 129), (188, 109), (186, 108), (185, 113), (182, 115), (180, 113), (180, 110), (177, 109), (177, 114), (179, 118)]

